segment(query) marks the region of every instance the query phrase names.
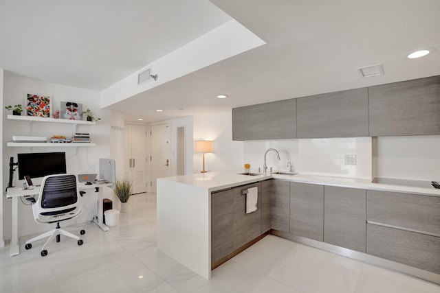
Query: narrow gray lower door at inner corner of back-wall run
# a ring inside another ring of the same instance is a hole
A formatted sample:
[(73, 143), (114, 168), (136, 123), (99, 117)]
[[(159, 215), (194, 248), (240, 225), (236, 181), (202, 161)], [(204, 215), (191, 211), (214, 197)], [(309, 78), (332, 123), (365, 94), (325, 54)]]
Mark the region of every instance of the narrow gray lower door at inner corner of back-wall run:
[(272, 180), (272, 229), (289, 233), (290, 183)]

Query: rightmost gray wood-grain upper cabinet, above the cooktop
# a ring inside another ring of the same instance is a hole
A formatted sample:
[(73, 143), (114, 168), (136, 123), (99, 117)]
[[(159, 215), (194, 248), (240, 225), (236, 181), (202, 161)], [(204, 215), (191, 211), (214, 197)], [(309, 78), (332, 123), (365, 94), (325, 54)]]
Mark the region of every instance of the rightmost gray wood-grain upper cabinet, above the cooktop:
[(440, 76), (369, 87), (370, 136), (440, 134)]

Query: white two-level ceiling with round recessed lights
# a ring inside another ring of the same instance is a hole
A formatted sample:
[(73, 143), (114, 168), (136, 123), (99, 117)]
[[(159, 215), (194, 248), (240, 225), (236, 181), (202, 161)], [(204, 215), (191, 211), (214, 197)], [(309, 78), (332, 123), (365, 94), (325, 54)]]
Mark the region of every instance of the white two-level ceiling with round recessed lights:
[[(211, 2), (0, 0), (0, 68), (103, 90), (232, 17), (266, 44), (109, 108), (159, 121), (440, 75), (438, 0)], [(378, 63), (384, 75), (360, 77)]]

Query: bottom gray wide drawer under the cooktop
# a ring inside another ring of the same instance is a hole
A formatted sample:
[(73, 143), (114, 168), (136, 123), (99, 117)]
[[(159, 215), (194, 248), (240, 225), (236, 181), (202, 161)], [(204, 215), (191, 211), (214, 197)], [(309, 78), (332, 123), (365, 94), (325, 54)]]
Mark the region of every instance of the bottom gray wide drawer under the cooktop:
[(367, 224), (366, 253), (440, 274), (440, 237)]

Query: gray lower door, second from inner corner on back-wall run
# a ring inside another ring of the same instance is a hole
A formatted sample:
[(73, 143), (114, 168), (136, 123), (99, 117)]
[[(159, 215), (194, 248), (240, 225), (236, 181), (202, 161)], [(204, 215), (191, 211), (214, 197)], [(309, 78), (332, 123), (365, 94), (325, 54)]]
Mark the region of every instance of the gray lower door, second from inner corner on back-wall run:
[(324, 186), (290, 183), (289, 233), (324, 240)]

